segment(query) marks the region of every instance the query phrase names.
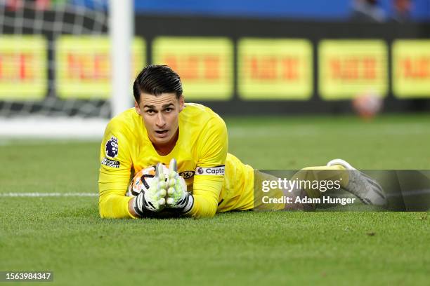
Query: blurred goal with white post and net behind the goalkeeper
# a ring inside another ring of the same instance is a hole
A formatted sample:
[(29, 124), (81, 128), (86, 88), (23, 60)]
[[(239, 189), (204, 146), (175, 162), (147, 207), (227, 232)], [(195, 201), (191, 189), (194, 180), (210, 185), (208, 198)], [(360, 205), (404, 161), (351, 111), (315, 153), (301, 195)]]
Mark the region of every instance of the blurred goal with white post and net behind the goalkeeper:
[[(131, 107), (131, 51), (121, 50), (131, 46), (131, 0), (110, 2), (123, 15), (107, 0), (0, 0), (0, 137), (100, 137)], [(109, 33), (112, 23), (124, 34)], [(116, 100), (113, 90), (122, 90)]]

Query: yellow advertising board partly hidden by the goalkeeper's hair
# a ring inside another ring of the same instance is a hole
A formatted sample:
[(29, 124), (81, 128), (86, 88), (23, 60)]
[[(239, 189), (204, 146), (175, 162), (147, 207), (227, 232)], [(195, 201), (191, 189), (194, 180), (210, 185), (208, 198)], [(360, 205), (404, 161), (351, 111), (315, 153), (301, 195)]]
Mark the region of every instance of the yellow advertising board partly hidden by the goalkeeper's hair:
[(160, 36), (152, 43), (152, 62), (167, 64), (181, 76), (187, 100), (233, 97), (233, 42), (228, 38)]

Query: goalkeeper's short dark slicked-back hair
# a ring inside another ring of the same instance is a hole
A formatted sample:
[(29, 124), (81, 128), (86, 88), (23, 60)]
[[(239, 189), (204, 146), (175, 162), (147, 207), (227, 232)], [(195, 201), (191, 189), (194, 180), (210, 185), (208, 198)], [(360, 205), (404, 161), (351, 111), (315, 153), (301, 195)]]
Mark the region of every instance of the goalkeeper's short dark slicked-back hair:
[(133, 83), (133, 95), (136, 102), (141, 99), (141, 93), (161, 95), (175, 93), (179, 99), (182, 95), (181, 78), (167, 65), (150, 64), (138, 74)]

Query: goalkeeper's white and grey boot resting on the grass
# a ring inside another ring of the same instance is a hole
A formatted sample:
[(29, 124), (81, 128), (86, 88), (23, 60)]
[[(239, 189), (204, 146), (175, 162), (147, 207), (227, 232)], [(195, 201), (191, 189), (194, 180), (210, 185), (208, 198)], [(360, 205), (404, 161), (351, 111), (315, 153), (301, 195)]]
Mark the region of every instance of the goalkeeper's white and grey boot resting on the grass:
[(382, 186), (374, 179), (365, 175), (363, 172), (353, 168), (348, 162), (342, 159), (334, 159), (327, 163), (327, 166), (341, 165), (348, 172), (348, 184), (344, 188), (346, 191), (357, 196), (366, 205), (386, 206), (386, 196)]

